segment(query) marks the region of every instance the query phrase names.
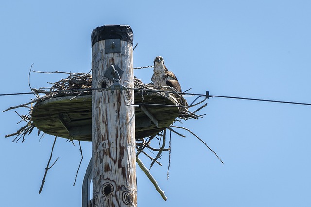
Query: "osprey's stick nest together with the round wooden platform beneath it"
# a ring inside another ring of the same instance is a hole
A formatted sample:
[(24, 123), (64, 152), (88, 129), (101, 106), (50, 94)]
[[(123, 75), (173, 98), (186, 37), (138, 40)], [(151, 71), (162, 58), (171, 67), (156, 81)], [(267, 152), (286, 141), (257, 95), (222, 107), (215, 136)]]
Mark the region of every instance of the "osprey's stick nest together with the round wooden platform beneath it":
[[(4, 110), (8, 111), (19, 107), (29, 108), (26, 115), (20, 115), (15, 111), (21, 118), (20, 122), (26, 124), (17, 132), (8, 134), (5, 137), (15, 137), (12, 142), (18, 142), (19, 140), (24, 142), (26, 135), (30, 135), (33, 129), (37, 128), (38, 136), (41, 133), (41, 136), (47, 133), (67, 138), (70, 141), (91, 141), (92, 75), (89, 73), (58, 71), (38, 73), (63, 73), (69, 74), (69, 76), (55, 83), (49, 83), (52, 86), (48, 88), (31, 88), (36, 96), (35, 99)], [(197, 100), (195, 99), (189, 106), (183, 106), (183, 103), (186, 103), (184, 99), (186, 95), (181, 96), (170, 87), (144, 84), (136, 77), (134, 77), (134, 94), (135, 105), (139, 106), (135, 107), (137, 156), (142, 153), (150, 158), (152, 161), (150, 167), (155, 162), (161, 165), (157, 159), (163, 151), (170, 151), (170, 146), (165, 147), (167, 142), (166, 129), (170, 131), (170, 134), (173, 132), (182, 137), (186, 136), (179, 131), (190, 132), (207, 146), (190, 129), (175, 125), (176, 123), (182, 124), (183, 121), (188, 119), (202, 118), (202, 115), (197, 115), (196, 112), (207, 106), (206, 99), (197, 103), (195, 103)], [(190, 112), (189, 109), (195, 106), (198, 108)], [(155, 158), (147, 154), (145, 149), (157, 152)], [(216, 155), (215, 152), (214, 154)]]

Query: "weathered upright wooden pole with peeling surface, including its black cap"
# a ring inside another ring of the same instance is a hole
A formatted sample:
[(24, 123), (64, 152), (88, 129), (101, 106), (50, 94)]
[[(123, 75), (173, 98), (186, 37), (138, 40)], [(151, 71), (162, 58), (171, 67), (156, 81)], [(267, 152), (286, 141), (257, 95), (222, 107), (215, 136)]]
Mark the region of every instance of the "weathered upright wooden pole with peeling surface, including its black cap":
[(132, 50), (128, 25), (92, 32), (93, 207), (137, 207)]

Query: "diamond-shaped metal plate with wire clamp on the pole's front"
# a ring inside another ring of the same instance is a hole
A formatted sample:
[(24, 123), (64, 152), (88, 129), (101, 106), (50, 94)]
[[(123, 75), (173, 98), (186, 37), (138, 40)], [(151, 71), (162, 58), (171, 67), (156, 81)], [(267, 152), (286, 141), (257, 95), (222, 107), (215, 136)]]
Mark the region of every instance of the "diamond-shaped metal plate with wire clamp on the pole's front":
[(115, 90), (119, 90), (120, 94), (122, 94), (123, 90), (127, 91), (127, 88), (124, 85), (120, 84), (121, 78), (120, 78), (118, 71), (121, 73), (121, 76), (122, 76), (124, 71), (121, 68), (119, 68), (117, 65), (111, 64), (104, 75), (109, 80), (113, 81), (113, 85), (110, 85), (106, 89), (107, 91), (111, 90), (112, 94), (115, 92)]

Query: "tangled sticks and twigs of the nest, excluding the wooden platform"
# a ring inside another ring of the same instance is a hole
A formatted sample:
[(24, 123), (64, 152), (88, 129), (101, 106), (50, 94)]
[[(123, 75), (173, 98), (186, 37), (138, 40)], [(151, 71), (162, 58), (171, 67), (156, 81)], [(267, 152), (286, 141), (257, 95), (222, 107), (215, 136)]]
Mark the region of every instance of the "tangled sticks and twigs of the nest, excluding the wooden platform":
[[(34, 71), (34, 72), (37, 72), (37, 71)], [(15, 133), (8, 134), (5, 136), (5, 137), (15, 137), (12, 142), (18, 142), (20, 139), (22, 139), (22, 142), (24, 142), (26, 135), (30, 135), (33, 132), (35, 125), (32, 121), (31, 114), (32, 114), (32, 110), (34, 109), (34, 105), (36, 103), (47, 100), (47, 99), (52, 99), (54, 97), (74, 96), (73, 98), (75, 98), (77, 96), (90, 95), (92, 93), (92, 90), (91, 90), (92, 89), (92, 75), (89, 73), (65, 73), (65, 72), (57, 72), (57, 71), (56, 72), (39, 72), (39, 73), (49, 73), (49, 74), (50, 73), (64, 73), (64, 74), (69, 74), (69, 76), (65, 79), (61, 79), (54, 83), (48, 82), (51, 85), (51, 87), (42, 87), (39, 89), (31, 88), (32, 92), (36, 96), (35, 99), (32, 99), (31, 101), (25, 104), (12, 106), (4, 110), (4, 111), (8, 111), (8, 110), (16, 109), (19, 107), (29, 108), (29, 111), (26, 115), (19, 115), (15, 111), (17, 115), (21, 118), (20, 122), (25, 122), (26, 124), (20, 129), (18, 129)], [(157, 163), (160, 166), (162, 166), (162, 164), (158, 161), (158, 159), (161, 158), (161, 154), (163, 151), (169, 151), (169, 155), (171, 154), (171, 133), (181, 136), (181, 137), (186, 137), (181, 132), (178, 132), (178, 130), (189, 132), (190, 134), (195, 136), (197, 139), (199, 139), (202, 143), (204, 143), (207, 146), (207, 144), (201, 138), (199, 138), (196, 134), (194, 134), (190, 129), (176, 126), (176, 123), (182, 124), (183, 121), (188, 120), (188, 119), (202, 118), (203, 115), (197, 115), (196, 112), (207, 106), (206, 99), (202, 101), (197, 101), (198, 98), (196, 98), (195, 101), (193, 101), (193, 103), (191, 103), (189, 106), (188, 105), (185, 106), (185, 103), (187, 103), (185, 101), (185, 97), (184, 97), (185, 95), (182, 96), (181, 94), (176, 93), (170, 87), (159, 87), (159, 86), (153, 86), (151, 84), (144, 84), (141, 80), (137, 79), (136, 77), (134, 78), (134, 88), (135, 88), (135, 92), (142, 92), (142, 91), (148, 92), (150, 90), (152, 91), (152, 93), (159, 93), (160, 91), (162, 92), (166, 91), (167, 93), (174, 96), (179, 103), (179, 106), (178, 106), (179, 115), (170, 126), (166, 127), (164, 130), (162, 130), (156, 135), (145, 137), (143, 139), (136, 141), (137, 156), (140, 154), (147, 156), (151, 160), (150, 168), (153, 166), (154, 163)], [(191, 96), (191, 95), (188, 94), (188, 96)], [(194, 110), (193, 112), (189, 111), (191, 107), (195, 107), (195, 106), (198, 107), (196, 110)], [(166, 133), (167, 131), (166, 129), (169, 130), (169, 133)], [(40, 135), (40, 133), (41, 131), (38, 129), (38, 133), (37, 133), (38, 136)], [(169, 139), (167, 139), (166, 137), (167, 134), (169, 134)], [(43, 135), (44, 133), (42, 133), (42, 136)], [(70, 141), (73, 141), (73, 140), (70, 140)], [(166, 146), (167, 143), (169, 144), (169, 146)], [(207, 148), (210, 149), (208, 146)], [(152, 157), (147, 153), (150, 150), (156, 152), (155, 157)], [(213, 150), (211, 151), (217, 156), (217, 154)], [(139, 164), (139, 166), (141, 166), (141, 163)], [(170, 166), (170, 160), (169, 160), (169, 166)], [(149, 173), (147, 169), (143, 169), (143, 171), (146, 173), (146, 175)], [(156, 184), (154, 183), (154, 185)], [(160, 193), (162, 194), (162, 192)]]

